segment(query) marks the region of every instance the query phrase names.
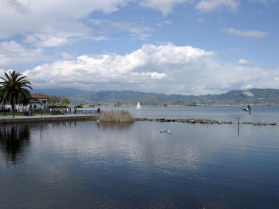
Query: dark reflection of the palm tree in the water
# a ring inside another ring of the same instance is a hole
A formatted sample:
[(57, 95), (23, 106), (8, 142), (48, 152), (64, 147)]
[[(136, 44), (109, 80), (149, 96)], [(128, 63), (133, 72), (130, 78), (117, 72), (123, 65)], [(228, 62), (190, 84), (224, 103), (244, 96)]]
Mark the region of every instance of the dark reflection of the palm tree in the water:
[(17, 164), (29, 146), (30, 131), (28, 125), (1, 125), (0, 150), (6, 159)]

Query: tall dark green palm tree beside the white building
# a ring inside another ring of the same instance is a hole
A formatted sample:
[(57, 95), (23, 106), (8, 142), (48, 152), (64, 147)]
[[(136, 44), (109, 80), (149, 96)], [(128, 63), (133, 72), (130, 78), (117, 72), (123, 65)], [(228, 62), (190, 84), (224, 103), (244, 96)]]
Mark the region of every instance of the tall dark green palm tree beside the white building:
[(0, 102), (10, 103), (15, 116), (15, 104), (29, 104), (31, 95), (27, 88), (33, 88), (20, 72), (5, 72), (5, 76), (6, 78), (0, 77)]

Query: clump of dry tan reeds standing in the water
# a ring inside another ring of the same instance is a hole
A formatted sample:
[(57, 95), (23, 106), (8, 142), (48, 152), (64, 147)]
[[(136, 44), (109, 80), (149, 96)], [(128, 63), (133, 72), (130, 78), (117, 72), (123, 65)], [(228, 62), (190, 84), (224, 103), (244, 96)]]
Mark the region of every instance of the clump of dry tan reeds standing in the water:
[(101, 111), (100, 114), (96, 114), (96, 120), (113, 123), (133, 123), (135, 121), (128, 111)]

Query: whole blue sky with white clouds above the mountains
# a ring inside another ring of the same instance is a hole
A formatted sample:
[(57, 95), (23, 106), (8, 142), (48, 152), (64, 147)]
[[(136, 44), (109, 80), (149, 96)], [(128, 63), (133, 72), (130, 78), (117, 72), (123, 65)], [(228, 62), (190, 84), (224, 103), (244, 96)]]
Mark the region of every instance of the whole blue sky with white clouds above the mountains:
[(279, 88), (279, 0), (0, 0), (0, 76), (34, 89)]

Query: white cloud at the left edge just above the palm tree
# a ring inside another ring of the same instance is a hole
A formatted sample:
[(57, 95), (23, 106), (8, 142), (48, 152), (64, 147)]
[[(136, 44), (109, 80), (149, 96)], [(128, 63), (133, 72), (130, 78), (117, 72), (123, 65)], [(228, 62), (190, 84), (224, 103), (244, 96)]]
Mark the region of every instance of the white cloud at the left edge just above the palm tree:
[(8, 66), (20, 63), (31, 63), (46, 60), (42, 49), (26, 49), (15, 41), (0, 42), (0, 65)]

